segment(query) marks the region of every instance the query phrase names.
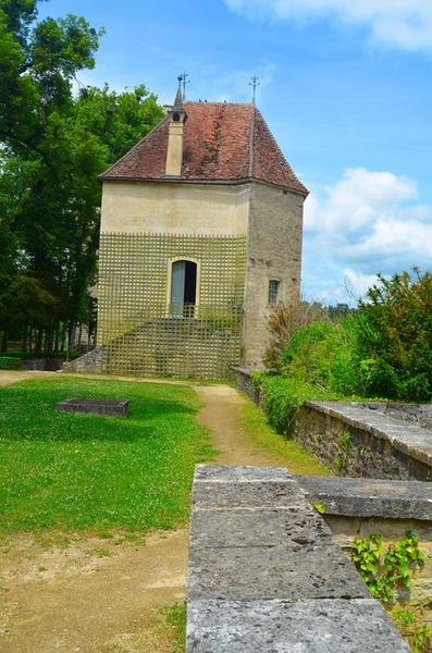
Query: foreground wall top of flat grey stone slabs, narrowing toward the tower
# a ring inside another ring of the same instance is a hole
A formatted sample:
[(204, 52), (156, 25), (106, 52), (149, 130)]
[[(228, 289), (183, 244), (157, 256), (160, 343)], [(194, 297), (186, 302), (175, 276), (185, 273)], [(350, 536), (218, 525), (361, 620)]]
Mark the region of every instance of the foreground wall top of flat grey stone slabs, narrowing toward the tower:
[(402, 653), (402, 640), (284, 469), (196, 469), (187, 653)]

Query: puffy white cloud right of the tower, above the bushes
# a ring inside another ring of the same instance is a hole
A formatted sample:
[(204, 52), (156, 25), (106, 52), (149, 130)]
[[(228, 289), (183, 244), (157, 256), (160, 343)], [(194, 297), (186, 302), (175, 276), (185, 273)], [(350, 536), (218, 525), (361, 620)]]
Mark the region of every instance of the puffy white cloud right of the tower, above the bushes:
[(334, 301), (363, 295), (379, 272), (430, 270), (432, 207), (414, 180), (346, 170), (305, 205), (304, 263), (307, 293)]

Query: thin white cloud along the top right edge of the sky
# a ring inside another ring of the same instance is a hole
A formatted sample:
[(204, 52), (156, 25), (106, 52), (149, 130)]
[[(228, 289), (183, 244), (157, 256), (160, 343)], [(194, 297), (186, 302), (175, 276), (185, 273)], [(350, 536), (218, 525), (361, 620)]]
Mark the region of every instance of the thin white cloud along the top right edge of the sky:
[(225, 0), (250, 17), (273, 20), (336, 19), (366, 27), (385, 46), (432, 50), (431, 0)]

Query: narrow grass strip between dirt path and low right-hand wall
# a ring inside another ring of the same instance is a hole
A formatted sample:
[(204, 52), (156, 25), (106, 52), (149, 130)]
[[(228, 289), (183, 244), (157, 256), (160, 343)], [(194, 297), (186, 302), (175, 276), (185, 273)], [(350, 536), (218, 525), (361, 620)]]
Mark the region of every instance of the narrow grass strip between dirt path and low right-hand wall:
[(267, 421), (266, 414), (254, 404), (239, 408), (239, 428), (257, 445), (267, 449), (292, 473), (307, 476), (331, 476), (322, 463), (295, 440), (277, 433)]

